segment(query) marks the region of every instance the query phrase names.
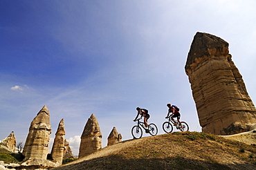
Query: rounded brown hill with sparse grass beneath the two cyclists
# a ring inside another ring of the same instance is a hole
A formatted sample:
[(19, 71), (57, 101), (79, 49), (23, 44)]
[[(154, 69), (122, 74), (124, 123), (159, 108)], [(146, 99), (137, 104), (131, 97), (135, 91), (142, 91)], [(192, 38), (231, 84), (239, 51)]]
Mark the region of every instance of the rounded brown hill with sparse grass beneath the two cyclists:
[(256, 144), (170, 133), (113, 144), (62, 169), (256, 169)]

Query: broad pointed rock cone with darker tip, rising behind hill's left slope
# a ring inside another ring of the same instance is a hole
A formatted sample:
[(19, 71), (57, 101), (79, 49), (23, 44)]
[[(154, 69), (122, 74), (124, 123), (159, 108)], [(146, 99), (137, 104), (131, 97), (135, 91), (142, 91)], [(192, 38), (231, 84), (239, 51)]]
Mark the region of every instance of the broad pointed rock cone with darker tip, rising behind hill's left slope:
[(92, 114), (84, 126), (84, 131), (81, 136), (80, 149), (78, 158), (98, 151), (102, 148), (102, 134), (100, 126), (95, 115)]

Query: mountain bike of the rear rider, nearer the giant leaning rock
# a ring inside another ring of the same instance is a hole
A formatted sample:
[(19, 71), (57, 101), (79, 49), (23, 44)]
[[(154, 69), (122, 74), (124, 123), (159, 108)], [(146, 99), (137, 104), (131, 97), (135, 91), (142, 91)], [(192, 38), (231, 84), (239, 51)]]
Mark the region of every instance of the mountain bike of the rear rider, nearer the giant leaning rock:
[(168, 122), (163, 122), (163, 131), (165, 131), (165, 133), (171, 133), (173, 131), (173, 127), (175, 126), (176, 129), (180, 130), (180, 131), (188, 131), (189, 130), (189, 126), (186, 122), (181, 122), (181, 127), (179, 122), (173, 121), (171, 119), (171, 117), (167, 117)]

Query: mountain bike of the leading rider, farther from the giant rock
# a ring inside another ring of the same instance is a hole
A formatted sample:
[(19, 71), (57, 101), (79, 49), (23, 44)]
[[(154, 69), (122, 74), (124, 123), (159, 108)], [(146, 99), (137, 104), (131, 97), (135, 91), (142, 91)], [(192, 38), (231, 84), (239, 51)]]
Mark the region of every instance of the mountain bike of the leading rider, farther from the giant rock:
[[(143, 129), (145, 129), (145, 124), (144, 122), (140, 122), (140, 119), (137, 119), (136, 121), (138, 122), (138, 124), (132, 127), (131, 135), (134, 138), (139, 139), (143, 136)], [(143, 127), (143, 129), (141, 129), (141, 127)], [(156, 135), (158, 133), (156, 124), (151, 123), (151, 124), (148, 124), (147, 127), (148, 129), (145, 129), (145, 131), (148, 130), (150, 135)]]

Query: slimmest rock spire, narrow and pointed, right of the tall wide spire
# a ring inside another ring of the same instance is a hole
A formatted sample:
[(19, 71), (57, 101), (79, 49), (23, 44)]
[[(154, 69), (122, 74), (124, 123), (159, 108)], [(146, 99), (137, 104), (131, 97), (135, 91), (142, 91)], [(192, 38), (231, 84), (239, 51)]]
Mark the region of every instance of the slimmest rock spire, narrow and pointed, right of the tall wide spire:
[(64, 119), (60, 120), (60, 124), (57, 128), (57, 132), (55, 133), (55, 139), (53, 142), (53, 149), (51, 151), (51, 155), (53, 160), (62, 164), (63, 155), (64, 155), (64, 147), (65, 144), (65, 126)]

